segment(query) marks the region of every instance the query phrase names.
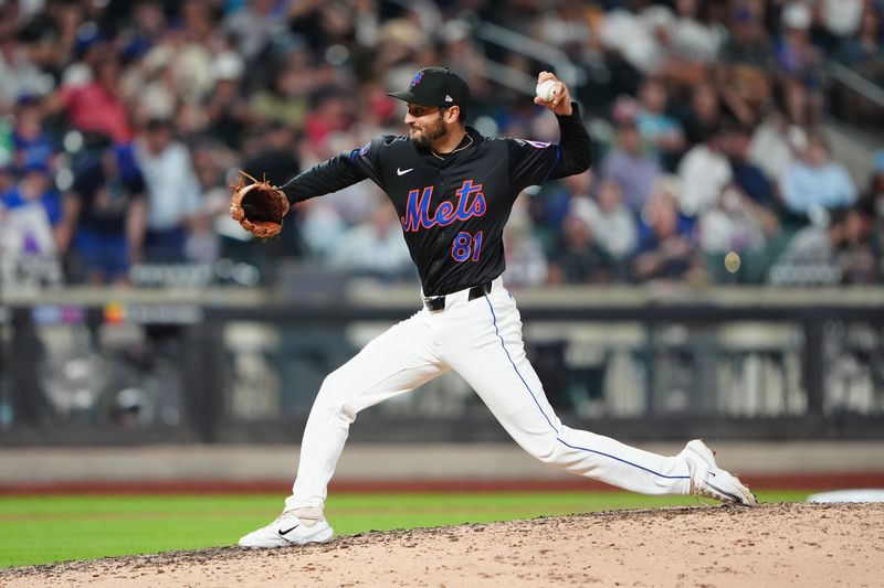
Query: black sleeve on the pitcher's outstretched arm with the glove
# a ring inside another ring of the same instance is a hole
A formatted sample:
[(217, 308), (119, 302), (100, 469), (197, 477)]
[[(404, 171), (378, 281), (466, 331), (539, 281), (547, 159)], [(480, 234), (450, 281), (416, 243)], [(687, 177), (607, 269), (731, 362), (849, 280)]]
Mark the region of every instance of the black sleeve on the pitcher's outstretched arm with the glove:
[(282, 191), (293, 204), (344, 190), (362, 180), (383, 188), (380, 150), (389, 137), (377, 137), (361, 149), (345, 151), (288, 180)]

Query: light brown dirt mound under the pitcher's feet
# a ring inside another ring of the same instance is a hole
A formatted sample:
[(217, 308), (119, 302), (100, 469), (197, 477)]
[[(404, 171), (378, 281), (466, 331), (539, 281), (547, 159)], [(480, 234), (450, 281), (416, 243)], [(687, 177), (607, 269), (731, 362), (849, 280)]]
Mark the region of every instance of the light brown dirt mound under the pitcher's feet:
[(884, 504), (614, 511), (0, 571), (0, 586), (881, 586)]

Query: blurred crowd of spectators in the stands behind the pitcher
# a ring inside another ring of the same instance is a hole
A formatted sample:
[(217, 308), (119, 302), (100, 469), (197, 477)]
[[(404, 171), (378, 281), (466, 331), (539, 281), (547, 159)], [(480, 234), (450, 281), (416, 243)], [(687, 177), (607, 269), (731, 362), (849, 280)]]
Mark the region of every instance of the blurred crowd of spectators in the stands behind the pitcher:
[(229, 184), (403, 132), (386, 93), (427, 65), (467, 79), (483, 132), (557, 140), (499, 78), (557, 64), (483, 40), (494, 23), (576, 65), (596, 142), (591, 171), (517, 201), (509, 284), (881, 282), (884, 150), (856, 181), (823, 131), (833, 115), (881, 131), (880, 107), (825, 73), (884, 86), (883, 15), (884, 0), (0, 0), (0, 253), (65, 284), (176, 266), (270, 280), (283, 260), (414, 280), (370, 182), (296, 206), (269, 243), (228, 218)]

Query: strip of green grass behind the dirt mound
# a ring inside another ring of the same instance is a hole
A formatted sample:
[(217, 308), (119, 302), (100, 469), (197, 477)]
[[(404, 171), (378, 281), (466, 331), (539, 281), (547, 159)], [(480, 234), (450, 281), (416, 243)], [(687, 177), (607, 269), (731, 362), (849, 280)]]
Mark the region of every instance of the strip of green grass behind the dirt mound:
[[(765, 502), (807, 492), (761, 492)], [(418, 526), (697, 504), (621, 492), (337, 494), (326, 516), (338, 535)], [(282, 496), (76, 495), (0, 498), (0, 567), (231, 545), (269, 523)]]

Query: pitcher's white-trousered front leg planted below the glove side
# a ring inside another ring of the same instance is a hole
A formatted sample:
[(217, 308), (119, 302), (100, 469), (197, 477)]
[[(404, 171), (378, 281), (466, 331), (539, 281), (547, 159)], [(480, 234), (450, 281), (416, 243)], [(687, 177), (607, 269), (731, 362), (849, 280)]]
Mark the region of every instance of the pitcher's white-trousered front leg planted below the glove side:
[(424, 318), (418, 313), (372, 340), (329, 374), (307, 418), (286, 510), (323, 507), (328, 481), (357, 413), (448, 371), (432, 352)]

